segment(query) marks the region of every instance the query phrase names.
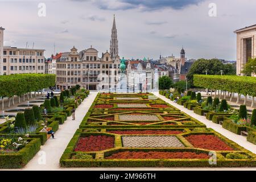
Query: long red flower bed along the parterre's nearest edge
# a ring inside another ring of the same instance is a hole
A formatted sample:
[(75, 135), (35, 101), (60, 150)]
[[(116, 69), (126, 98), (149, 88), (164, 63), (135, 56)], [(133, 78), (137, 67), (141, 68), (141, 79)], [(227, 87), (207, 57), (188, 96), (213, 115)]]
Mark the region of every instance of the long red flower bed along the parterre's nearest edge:
[(208, 159), (207, 154), (195, 152), (118, 152), (105, 159)]

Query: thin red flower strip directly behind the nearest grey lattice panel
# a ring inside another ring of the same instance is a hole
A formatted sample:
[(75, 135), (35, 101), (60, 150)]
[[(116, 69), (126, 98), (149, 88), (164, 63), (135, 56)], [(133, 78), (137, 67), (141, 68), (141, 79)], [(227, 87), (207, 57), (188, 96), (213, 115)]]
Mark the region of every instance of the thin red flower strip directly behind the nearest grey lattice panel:
[(119, 134), (119, 135), (122, 135), (122, 134), (177, 135), (177, 134), (183, 133), (182, 131), (179, 131), (179, 130), (121, 130), (121, 131), (108, 131), (108, 132), (114, 133), (114, 134)]

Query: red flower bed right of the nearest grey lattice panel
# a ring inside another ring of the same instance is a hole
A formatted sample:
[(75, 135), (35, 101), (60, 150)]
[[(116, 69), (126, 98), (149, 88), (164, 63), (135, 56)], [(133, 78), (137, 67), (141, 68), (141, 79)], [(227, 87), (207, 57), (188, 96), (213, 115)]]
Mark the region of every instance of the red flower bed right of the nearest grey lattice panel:
[(190, 135), (185, 137), (194, 147), (208, 150), (233, 150), (228, 144), (214, 135)]

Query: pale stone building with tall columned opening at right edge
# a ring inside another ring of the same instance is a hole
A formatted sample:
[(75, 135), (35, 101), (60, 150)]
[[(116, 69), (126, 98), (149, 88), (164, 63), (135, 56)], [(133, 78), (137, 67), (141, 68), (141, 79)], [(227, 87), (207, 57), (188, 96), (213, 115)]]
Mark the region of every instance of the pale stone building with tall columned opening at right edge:
[(256, 57), (256, 24), (234, 31), (237, 34), (237, 75), (241, 73), (243, 64)]

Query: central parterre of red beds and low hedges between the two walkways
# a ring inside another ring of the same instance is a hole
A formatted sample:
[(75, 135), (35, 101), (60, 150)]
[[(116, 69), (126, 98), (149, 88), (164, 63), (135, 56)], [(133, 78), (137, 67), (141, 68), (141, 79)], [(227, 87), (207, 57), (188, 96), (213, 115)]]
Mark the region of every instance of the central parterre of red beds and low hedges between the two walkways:
[[(216, 152), (216, 165), (209, 163), (209, 152)], [(98, 93), (60, 165), (255, 167), (255, 159), (252, 152), (153, 94)]]

